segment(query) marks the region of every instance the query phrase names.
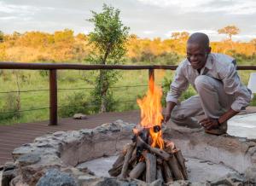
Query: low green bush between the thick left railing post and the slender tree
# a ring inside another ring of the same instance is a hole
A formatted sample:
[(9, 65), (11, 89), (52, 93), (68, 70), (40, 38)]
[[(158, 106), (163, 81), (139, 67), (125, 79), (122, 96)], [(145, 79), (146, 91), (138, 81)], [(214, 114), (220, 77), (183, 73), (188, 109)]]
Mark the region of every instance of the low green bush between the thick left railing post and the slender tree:
[(67, 102), (67, 104), (59, 108), (60, 117), (71, 117), (75, 113), (92, 113), (89, 104), (90, 101), (86, 99), (83, 92), (68, 95), (62, 102)]

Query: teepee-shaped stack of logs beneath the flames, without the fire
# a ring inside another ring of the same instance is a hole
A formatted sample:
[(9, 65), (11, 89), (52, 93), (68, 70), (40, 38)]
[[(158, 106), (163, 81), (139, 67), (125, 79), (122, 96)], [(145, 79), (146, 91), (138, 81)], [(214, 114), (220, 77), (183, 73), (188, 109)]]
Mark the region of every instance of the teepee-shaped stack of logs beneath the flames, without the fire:
[[(153, 148), (137, 136), (125, 145), (118, 159), (108, 171), (112, 177), (131, 177), (152, 183), (161, 179), (164, 183), (188, 179), (183, 154), (172, 142), (165, 141), (165, 148)], [(139, 154), (139, 155), (138, 155)]]

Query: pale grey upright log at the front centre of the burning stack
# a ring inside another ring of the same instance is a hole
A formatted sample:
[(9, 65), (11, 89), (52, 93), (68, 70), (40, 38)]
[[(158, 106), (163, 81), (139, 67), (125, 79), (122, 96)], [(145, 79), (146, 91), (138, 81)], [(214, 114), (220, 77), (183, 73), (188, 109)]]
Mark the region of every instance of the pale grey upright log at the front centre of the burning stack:
[(156, 178), (156, 157), (146, 151), (143, 156), (146, 161), (146, 183), (152, 183)]

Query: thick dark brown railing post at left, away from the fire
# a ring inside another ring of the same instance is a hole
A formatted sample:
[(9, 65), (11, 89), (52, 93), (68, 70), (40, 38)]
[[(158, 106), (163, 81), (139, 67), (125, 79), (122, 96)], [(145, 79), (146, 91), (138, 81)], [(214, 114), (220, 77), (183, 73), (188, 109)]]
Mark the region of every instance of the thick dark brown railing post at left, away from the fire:
[(57, 71), (49, 70), (49, 125), (58, 124)]

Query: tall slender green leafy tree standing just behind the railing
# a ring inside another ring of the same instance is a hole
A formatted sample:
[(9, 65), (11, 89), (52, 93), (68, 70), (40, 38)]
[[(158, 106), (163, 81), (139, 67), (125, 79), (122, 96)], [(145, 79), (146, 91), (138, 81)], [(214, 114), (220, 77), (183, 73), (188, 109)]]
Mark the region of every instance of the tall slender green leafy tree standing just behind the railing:
[[(125, 61), (129, 27), (119, 19), (119, 9), (103, 4), (102, 13), (92, 12), (89, 19), (94, 24), (93, 32), (89, 33), (89, 42), (95, 47), (87, 61), (91, 64), (117, 65)], [(96, 111), (111, 110), (113, 96), (109, 87), (118, 79), (116, 71), (100, 70), (95, 78), (95, 89), (91, 92)]]

